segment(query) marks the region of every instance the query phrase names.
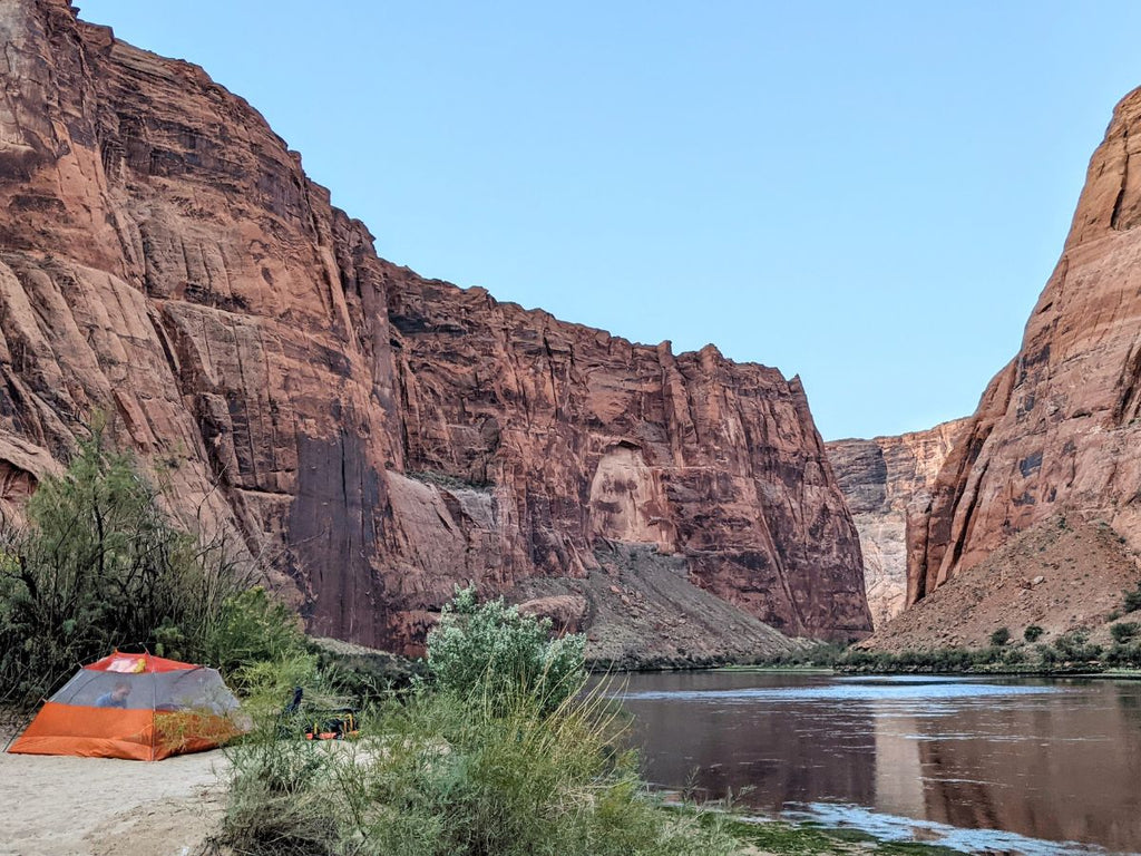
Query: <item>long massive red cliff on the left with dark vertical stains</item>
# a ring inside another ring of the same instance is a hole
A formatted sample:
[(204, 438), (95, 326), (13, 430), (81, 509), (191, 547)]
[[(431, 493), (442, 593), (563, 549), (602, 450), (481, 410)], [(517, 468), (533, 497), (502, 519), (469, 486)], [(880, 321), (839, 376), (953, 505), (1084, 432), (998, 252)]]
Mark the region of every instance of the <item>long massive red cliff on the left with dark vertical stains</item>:
[(869, 629), (795, 378), (423, 280), (196, 66), (62, 0), (0, 35), (0, 500), (104, 410), (319, 635), (414, 648), (455, 583), (523, 598), (618, 542), (787, 633)]

